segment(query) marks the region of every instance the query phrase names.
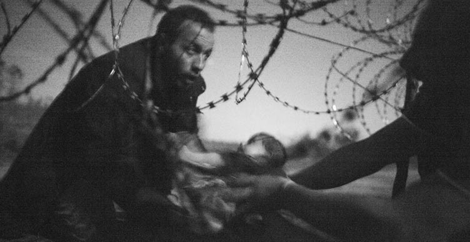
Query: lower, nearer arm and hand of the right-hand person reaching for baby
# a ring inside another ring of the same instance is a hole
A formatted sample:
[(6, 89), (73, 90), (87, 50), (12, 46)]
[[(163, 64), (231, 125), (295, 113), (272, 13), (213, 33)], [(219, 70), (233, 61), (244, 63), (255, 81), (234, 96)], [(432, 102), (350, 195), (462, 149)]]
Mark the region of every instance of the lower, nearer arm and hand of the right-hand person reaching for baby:
[(262, 202), (273, 209), (289, 210), (341, 240), (395, 241), (402, 229), (401, 218), (388, 200), (310, 190), (272, 175), (239, 174), (230, 186), (227, 200)]

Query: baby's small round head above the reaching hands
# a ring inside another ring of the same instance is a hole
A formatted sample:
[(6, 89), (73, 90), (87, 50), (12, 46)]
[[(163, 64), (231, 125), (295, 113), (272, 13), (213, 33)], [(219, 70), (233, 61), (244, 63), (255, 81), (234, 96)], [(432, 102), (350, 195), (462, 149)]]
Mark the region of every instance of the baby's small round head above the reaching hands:
[(246, 144), (240, 145), (239, 152), (243, 152), (265, 168), (280, 168), (287, 159), (284, 145), (273, 136), (261, 132), (251, 136)]

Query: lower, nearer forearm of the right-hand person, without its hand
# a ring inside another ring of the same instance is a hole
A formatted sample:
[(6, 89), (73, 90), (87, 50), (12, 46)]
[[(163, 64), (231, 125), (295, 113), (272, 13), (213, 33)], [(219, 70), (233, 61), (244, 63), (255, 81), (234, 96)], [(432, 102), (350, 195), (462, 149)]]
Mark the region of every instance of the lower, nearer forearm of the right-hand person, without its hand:
[(314, 191), (295, 183), (280, 197), (284, 209), (334, 237), (390, 241), (399, 234), (399, 222), (385, 200)]

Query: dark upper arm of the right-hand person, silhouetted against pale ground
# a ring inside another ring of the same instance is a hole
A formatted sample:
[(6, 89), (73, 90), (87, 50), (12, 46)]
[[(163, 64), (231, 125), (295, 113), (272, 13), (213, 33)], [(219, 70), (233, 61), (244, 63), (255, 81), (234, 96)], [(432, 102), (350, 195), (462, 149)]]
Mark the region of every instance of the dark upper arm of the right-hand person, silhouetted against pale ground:
[(424, 142), (423, 133), (401, 117), (370, 137), (342, 147), (290, 177), (311, 189), (342, 186), (388, 164), (408, 159), (423, 149)]

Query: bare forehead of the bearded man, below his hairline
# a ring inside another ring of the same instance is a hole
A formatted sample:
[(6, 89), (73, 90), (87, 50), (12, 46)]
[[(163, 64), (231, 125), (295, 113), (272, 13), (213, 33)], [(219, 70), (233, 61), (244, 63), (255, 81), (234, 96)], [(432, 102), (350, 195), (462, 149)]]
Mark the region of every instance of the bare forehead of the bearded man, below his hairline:
[(179, 38), (185, 42), (201, 42), (211, 46), (214, 44), (214, 34), (208, 28), (203, 28), (201, 23), (185, 20), (179, 29)]

